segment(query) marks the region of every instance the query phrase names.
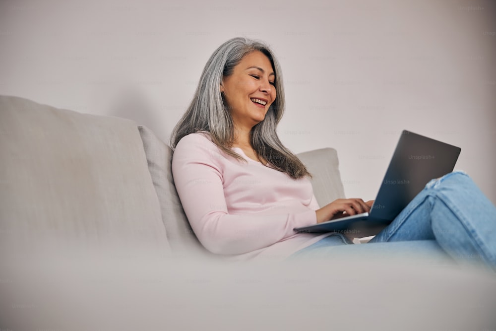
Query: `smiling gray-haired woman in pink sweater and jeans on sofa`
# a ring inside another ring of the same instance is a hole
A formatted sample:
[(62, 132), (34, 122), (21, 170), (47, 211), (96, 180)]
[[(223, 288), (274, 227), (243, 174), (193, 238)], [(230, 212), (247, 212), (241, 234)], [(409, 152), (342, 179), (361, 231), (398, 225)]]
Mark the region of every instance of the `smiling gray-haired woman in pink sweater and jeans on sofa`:
[[(370, 210), (373, 201), (362, 199), (318, 206), (308, 170), (277, 136), (283, 111), (281, 69), (266, 45), (234, 38), (212, 54), (171, 138), (176, 188), (207, 250), (235, 259), (327, 254), (329, 247), (351, 242), (337, 233), (293, 228)], [(465, 206), (473, 203), (476, 214), (473, 207), (469, 214)], [(436, 231), (443, 227), (457, 232)], [(372, 242), (400, 241), (456, 259), (476, 256), (495, 267), (495, 236), (495, 206), (468, 176), (451, 173), (431, 181)]]

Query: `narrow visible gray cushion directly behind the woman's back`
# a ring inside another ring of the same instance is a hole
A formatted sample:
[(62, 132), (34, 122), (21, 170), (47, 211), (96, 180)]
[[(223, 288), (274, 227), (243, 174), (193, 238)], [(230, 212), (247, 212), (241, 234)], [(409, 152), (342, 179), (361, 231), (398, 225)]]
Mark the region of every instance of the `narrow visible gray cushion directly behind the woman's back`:
[(172, 177), (172, 149), (150, 129), (143, 126), (139, 126), (138, 129), (172, 250), (175, 253), (211, 255), (194, 235), (181, 205)]

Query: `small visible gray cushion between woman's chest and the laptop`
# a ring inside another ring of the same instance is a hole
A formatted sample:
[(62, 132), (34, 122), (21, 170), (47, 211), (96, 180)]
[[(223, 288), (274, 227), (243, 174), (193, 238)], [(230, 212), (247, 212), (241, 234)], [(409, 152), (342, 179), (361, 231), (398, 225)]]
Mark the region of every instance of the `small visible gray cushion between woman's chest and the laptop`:
[(334, 148), (315, 149), (297, 156), (312, 175), (313, 194), (321, 207), (335, 199), (345, 198), (338, 155)]

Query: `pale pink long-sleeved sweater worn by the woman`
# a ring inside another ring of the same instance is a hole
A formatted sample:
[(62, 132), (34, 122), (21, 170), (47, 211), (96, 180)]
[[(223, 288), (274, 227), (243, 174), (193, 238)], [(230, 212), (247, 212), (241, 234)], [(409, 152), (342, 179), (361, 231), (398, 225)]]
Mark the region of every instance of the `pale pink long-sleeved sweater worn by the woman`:
[(174, 182), (196, 237), (209, 251), (235, 260), (284, 259), (329, 234), (296, 233), (316, 223), (319, 206), (307, 178), (223, 153), (208, 133), (192, 133), (174, 151)]

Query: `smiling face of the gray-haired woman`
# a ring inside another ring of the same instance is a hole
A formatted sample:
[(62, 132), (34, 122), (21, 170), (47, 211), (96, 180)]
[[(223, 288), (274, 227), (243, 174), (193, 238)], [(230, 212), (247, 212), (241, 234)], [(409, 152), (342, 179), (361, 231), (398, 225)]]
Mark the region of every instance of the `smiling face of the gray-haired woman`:
[(263, 121), (276, 98), (275, 78), (270, 60), (262, 52), (254, 51), (222, 79), (220, 90), (238, 129), (249, 131)]

